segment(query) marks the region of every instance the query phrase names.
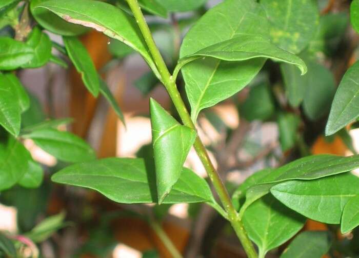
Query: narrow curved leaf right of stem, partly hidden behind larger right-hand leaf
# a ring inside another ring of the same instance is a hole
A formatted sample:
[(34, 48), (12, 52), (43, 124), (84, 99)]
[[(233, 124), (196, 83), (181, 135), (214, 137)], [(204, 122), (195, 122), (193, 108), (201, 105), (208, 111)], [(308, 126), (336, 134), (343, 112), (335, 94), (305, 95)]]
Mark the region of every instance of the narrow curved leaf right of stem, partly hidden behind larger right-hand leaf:
[(247, 177), (247, 179), (233, 192), (232, 203), (236, 210), (238, 210), (244, 203), (247, 190), (250, 187), (260, 183), (263, 177), (267, 176), (271, 171), (272, 169), (267, 168), (255, 172), (254, 174)]

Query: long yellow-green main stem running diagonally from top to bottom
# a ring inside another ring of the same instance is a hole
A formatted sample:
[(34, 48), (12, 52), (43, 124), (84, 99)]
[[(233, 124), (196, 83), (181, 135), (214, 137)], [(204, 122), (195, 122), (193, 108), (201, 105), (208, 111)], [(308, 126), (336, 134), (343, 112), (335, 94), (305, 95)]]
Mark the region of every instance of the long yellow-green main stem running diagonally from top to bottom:
[[(181, 120), (185, 126), (188, 126), (194, 130), (196, 130), (195, 125), (193, 124), (191, 120), (191, 116), (187, 111), (186, 105), (184, 104), (181, 95), (179, 94), (177, 90), (177, 86), (175, 83), (175, 78), (172, 77), (170, 72), (168, 71), (168, 68), (165, 64), (165, 61), (159, 52), (151, 31), (146, 23), (145, 17), (141, 11), (141, 8), (139, 7), (137, 0), (127, 0), (128, 5), (130, 6), (132, 13), (136, 19), (136, 22), (138, 24), (139, 29), (141, 30), (146, 44), (151, 52), (151, 55), (153, 57), (153, 60), (157, 66), (157, 69), (159, 71), (159, 74), (161, 74), (162, 77), (162, 83), (166, 87), (166, 90), (168, 91), (168, 94), (171, 97), (171, 100), (181, 117)], [(234, 209), (231, 199), (229, 197), (229, 194), (227, 192), (227, 189), (218, 174), (218, 172), (215, 170), (209, 156), (207, 153), (207, 150), (205, 146), (203, 145), (200, 137), (196, 137), (196, 140), (194, 142), (194, 149), (197, 152), (197, 155), (200, 157), (201, 162), (203, 166), (206, 169), (206, 172), (210, 178), (210, 180), (213, 183), (214, 189), (217, 192), (218, 196), (220, 197), (220, 200), (222, 202), (222, 205), (226, 212), (228, 213), (228, 220), (230, 221), (232, 227), (234, 228), (234, 231), (236, 232), (238, 238), (240, 239), (243, 248), (245, 249), (248, 257), (250, 258), (256, 258), (257, 253), (253, 247), (252, 242), (249, 240), (247, 232), (245, 231), (243, 227), (243, 223), (240, 220), (240, 217), (238, 216), (237, 211)]]

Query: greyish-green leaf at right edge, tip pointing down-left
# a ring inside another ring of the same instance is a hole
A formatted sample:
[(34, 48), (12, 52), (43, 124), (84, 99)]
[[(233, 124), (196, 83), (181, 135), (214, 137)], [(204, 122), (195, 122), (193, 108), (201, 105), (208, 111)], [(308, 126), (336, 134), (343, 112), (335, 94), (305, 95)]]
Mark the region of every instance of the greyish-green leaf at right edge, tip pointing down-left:
[(344, 74), (336, 90), (325, 134), (331, 135), (359, 117), (359, 62)]

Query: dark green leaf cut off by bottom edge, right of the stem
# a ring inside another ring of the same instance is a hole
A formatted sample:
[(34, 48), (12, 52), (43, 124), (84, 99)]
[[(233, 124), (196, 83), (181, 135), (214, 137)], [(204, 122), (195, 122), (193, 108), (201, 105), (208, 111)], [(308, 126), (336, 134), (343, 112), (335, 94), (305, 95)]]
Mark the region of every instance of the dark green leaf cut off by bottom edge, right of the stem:
[(328, 231), (305, 231), (295, 237), (281, 258), (321, 258), (329, 251), (332, 242)]

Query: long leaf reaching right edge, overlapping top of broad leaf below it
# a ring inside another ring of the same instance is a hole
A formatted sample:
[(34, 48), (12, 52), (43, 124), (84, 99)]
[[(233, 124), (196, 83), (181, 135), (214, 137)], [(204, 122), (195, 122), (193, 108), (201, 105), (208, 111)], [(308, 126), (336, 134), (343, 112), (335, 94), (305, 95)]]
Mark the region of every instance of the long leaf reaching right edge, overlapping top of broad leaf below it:
[(359, 155), (348, 157), (331, 154), (312, 155), (299, 158), (274, 169), (261, 183), (277, 183), (287, 180), (313, 180), (320, 177), (351, 171), (359, 167)]

